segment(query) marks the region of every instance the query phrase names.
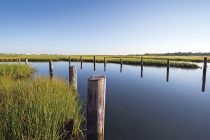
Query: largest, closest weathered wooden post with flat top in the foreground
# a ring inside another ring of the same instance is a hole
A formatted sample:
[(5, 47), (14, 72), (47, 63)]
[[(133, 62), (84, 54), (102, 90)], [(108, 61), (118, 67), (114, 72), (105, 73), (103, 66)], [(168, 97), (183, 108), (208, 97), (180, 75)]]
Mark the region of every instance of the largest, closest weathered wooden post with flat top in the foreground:
[(106, 77), (88, 79), (87, 140), (104, 140)]

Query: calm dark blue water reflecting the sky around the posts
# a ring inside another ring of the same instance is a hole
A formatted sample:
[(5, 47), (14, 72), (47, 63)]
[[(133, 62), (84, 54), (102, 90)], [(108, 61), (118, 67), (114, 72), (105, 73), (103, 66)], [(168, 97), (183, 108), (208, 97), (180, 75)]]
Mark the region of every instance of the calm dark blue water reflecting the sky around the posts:
[[(30, 63), (36, 75), (49, 75), (48, 63)], [(106, 140), (210, 140), (210, 70), (202, 92), (202, 69), (72, 63), (78, 70), (79, 94), (86, 98), (87, 78), (106, 75)], [(55, 76), (68, 79), (68, 63), (54, 63)], [(143, 77), (141, 77), (143, 76)]]

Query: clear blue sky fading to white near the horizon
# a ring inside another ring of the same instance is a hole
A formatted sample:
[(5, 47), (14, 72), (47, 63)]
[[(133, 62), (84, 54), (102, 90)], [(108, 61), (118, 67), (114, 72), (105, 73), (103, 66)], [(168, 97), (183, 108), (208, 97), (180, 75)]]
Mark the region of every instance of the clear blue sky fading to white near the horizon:
[(1, 0), (0, 52), (210, 52), (210, 0)]

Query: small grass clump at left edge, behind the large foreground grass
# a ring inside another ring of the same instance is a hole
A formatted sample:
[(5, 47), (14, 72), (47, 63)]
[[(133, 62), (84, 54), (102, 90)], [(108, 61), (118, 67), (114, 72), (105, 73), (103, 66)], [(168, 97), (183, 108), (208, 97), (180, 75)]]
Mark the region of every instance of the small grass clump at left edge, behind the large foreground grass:
[(26, 78), (35, 71), (36, 69), (30, 65), (0, 64), (0, 76), (9, 76), (15, 79)]

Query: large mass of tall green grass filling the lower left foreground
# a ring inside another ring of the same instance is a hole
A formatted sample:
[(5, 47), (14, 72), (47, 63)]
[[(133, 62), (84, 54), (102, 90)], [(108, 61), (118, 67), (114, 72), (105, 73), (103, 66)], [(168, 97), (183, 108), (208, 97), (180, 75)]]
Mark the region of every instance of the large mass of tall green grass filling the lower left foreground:
[(82, 134), (82, 102), (68, 82), (0, 77), (0, 139), (59, 140)]

